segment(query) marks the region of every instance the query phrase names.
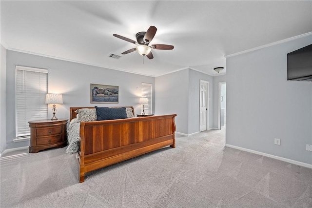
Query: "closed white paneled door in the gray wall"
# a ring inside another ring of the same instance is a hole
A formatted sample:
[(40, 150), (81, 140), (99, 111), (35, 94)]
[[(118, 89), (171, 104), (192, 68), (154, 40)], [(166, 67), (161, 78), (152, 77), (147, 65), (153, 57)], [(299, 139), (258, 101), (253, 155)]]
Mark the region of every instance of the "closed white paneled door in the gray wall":
[(200, 81), (200, 114), (199, 114), (199, 131), (207, 130), (208, 125), (208, 94), (209, 83)]

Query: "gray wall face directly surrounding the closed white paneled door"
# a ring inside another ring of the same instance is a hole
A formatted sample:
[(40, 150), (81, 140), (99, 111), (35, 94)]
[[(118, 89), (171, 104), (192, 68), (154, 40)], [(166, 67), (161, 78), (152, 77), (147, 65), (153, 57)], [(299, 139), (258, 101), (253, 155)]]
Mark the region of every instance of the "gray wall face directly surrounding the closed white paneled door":
[(215, 98), (213, 97), (213, 77), (207, 74), (189, 69), (189, 133), (199, 132), (199, 101), (200, 101), (200, 80), (209, 82), (209, 128), (213, 127), (213, 112), (212, 105)]

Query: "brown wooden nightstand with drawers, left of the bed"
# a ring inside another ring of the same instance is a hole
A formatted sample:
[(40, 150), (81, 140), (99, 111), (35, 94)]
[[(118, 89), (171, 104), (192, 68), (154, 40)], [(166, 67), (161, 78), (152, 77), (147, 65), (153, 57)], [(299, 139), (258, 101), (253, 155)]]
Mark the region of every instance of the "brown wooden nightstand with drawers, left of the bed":
[(67, 146), (66, 125), (68, 119), (30, 121), (30, 153)]

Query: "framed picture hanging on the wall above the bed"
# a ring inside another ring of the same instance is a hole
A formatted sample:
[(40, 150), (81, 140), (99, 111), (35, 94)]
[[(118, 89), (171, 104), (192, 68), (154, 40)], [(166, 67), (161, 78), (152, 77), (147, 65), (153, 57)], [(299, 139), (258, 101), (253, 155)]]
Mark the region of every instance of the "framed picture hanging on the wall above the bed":
[(117, 104), (118, 86), (90, 84), (90, 101), (92, 104)]

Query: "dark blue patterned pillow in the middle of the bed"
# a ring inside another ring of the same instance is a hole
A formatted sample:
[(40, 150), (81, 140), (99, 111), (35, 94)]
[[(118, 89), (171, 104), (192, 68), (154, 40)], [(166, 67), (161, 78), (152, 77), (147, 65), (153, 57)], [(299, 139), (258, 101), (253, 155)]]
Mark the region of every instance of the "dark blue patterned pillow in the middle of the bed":
[(125, 107), (109, 108), (95, 106), (95, 108), (97, 111), (98, 121), (127, 118), (127, 112)]

